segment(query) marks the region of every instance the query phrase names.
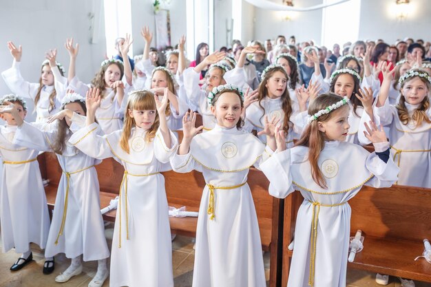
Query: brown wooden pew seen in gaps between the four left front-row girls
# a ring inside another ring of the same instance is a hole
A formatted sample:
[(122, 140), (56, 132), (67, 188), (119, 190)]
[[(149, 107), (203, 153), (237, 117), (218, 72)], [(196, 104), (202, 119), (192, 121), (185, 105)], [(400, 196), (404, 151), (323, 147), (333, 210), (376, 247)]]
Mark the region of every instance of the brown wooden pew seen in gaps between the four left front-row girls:
[[(178, 133), (182, 138), (182, 133)], [(61, 167), (53, 153), (43, 153), (39, 156), (40, 168), (43, 178), (48, 178), (50, 184), (45, 187), (48, 207), (54, 208), (56, 191), (61, 178)], [(109, 201), (118, 195), (123, 167), (108, 158), (96, 166), (98, 180), (101, 187), (101, 207), (109, 205)], [(187, 211), (199, 211), (200, 198), (205, 186), (202, 173), (192, 171), (190, 173), (176, 173), (167, 171), (162, 173), (165, 177), (165, 188), (169, 206), (179, 208), (186, 206)], [(282, 202), (271, 197), (268, 193), (269, 181), (264, 174), (257, 169), (250, 169), (249, 186), (253, 195), (253, 201), (257, 213), (257, 221), (260, 228), (262, 250), (271, 252), (270, 286), (278, 286), (277, 280), (281, 279), (281, 262), (279, 248), (279, 220), (282, 217)], [(115, 222), (116, 210), (103, 215), (103, 219)], [(189, 237), (196, 237), (198, 217), (169, 217), (171, 232)], [(281, 247), (281, 246), (280, 246)]]

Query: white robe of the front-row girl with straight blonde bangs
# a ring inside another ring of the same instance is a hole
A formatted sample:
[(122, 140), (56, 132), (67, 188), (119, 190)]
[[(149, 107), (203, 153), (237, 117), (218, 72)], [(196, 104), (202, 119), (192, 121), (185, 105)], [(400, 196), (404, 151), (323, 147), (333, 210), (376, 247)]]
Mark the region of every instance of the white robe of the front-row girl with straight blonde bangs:
[(120, 147), (122, 131), (98, 136), (96, 129), (96, 123), (84, 127), (69, 142), (94, 158), (114, 158), (125, 169), (109, 286), (174, 286), (165, 178), (160, 172), (170, 169), (169, 156), (177, 147), (176, 138), (170, 134), (172, 147), (168, 148), (157, 131), (154, 140), (145, 142), (147, 131), (134, 127), (127, 153)]

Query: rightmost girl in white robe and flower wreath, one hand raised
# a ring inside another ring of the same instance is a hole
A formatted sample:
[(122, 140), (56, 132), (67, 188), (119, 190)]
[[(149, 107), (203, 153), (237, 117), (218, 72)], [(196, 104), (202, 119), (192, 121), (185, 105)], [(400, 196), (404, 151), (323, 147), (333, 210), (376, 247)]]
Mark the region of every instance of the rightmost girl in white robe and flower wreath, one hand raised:
[(391, 154), (399, 166), (397, 183), (431, 188), (431, 78), (419, 69), (403, 74), (399, 79), (399, 101), (393, 106), (388, 94), (395, 70), (383, 65), (383, 83), (373, 107), (374, 119), (389, 127)]

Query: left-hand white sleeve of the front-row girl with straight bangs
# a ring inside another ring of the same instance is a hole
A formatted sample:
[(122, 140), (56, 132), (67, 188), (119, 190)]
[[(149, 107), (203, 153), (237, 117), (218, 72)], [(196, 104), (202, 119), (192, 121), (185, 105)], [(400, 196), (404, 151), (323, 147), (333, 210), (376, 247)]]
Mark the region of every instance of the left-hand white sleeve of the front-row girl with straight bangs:
[(92, 158), (103, 160), (114, 157), (114, 153), (107, 142), (107, 136), (101, 135), (101, 127), (97, 123), (92, 123), (92, 125), (76, 131), (70, 137), (69, 142)]

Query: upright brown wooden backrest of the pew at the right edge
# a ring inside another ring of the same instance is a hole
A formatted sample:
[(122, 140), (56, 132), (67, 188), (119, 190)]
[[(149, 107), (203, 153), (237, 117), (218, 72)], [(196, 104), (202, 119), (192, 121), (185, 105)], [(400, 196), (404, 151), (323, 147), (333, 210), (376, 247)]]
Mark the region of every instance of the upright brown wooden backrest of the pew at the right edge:
[(383, 189), (364, 186), (349, 204), (353, 233), (361, 229), (374, 237), (419, 242), (431, 237), (431, 189), (402, 185)]

